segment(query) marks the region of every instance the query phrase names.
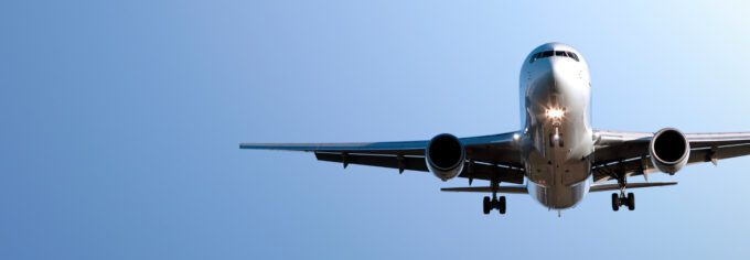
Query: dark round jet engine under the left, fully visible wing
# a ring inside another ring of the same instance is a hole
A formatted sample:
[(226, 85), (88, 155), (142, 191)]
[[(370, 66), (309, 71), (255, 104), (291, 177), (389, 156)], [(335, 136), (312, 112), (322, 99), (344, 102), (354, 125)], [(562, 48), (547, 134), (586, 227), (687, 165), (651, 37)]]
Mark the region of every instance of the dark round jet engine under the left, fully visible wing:
[(443, 182), (461, 173), (467, 152), (461, 141), (448, 133), (432, 138), (425, 150), (427, 167)]

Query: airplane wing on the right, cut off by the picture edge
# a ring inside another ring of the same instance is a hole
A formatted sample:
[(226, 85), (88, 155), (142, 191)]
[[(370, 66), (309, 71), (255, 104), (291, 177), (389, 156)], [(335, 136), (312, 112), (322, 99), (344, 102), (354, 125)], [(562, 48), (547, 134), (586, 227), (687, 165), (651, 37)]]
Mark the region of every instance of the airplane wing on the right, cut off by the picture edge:
[[(597, 131), (593, 163), (594, 183), (604, 182), (618, 172), (628, 176), (657, 172), (649, 155), (654, 133)], [(711, 162), (750, 154), (750, 132), (686, 133), (690, 144), (687, 164)]]

